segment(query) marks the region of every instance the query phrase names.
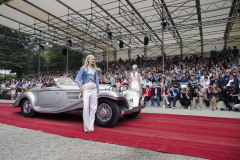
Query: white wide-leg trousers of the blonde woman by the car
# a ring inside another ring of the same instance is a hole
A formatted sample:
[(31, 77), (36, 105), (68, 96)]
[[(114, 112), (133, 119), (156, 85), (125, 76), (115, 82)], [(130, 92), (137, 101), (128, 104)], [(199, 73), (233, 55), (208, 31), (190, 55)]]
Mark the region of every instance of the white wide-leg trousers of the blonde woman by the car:
[(84, 131), (94, 131), (95, 113), (97, 110), (97, 88), (93, 82), (83, 86), (83, 123)]

